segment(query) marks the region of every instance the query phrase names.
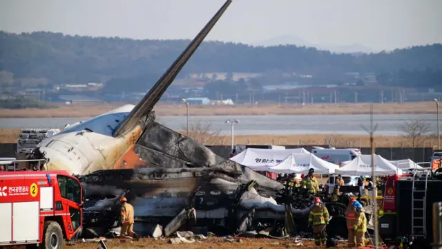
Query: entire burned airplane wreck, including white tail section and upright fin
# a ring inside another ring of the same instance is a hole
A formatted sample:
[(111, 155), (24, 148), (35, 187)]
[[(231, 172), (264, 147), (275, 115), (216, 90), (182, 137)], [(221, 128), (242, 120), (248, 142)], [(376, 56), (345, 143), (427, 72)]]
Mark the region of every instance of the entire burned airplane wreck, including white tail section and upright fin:
[[(134, 230), (141, 236), (157, 224), (164, 226), (165, 236), (198, 227), (240, 234), (270, 226), (279, 237), (284, 231), (308, 232), (312, 196), (225, 160), (155, 122), (153, 107), (230, 3), (224, 3), (136, 106), (70, 125), (30, 154), (45, 158), (46, 169), (77, 175), (84, 185), (83, 237), (103, 236), (119, 227), (120, 196), (135, 208)], [(343, 219), (345, 205), (334, 210), (331, 215)], [(335, 221), (339, 229), (333, 228)], [(347, 234), (345, 220), (342, 225), (334, 219), (327, 230)]]

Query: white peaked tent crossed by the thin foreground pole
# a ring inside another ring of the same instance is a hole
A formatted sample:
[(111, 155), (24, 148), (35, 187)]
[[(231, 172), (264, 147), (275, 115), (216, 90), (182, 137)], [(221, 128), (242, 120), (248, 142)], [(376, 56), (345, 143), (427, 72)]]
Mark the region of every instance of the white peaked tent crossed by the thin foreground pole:
[[(376, 174), (402, 174), (401, 169), (392, 165), (389, 160), (379, 155), (374, 155), (374, 165)], [(372, 175), (372, 155), (359, 155), (349, 164), (336, 169), (336, 174)]]

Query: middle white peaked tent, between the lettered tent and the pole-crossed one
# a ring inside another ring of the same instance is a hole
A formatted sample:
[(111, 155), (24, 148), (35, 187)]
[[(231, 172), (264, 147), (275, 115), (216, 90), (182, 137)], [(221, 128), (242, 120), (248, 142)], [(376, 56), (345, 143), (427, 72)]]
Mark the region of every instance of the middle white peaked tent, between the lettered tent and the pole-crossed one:
[(269, 172), (307, 174), (310, 168), (314, 168), (316, 174), (334, 174), (339, 166), (314, 154), (291, 154), (280, 164), (269, 168)]

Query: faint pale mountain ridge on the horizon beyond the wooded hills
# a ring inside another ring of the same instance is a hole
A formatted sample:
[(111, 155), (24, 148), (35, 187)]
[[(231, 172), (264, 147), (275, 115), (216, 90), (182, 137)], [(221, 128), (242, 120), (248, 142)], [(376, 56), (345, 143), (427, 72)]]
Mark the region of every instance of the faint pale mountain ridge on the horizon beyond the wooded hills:
[(337, 44), (311, 44), (300, 37), (294, 35), (281, 35), (273, 37), (262, 42), (255, 42), (253, 46), (278, 46), (278, 45), (296, 45), (314, 47), (320, 50), (329, 50), (334, 53), (372, 53), (374, 50), (363, 44), (337, 45)]

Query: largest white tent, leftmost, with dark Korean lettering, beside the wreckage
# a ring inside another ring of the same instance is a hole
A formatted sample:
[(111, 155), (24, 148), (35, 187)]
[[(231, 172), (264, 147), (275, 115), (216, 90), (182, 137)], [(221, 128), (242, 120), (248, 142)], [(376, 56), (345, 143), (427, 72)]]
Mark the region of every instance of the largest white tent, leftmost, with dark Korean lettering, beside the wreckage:
[(253, 170), (266, 171), (269, 167), (278, 165), (287, 156), (294, 153), (310, 154), (307, 149), (255, 149), (248, 148), (240, 154), (233, 156), (230, 160), (250, 167)]

